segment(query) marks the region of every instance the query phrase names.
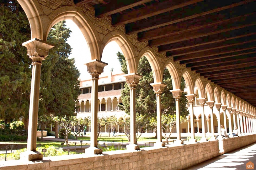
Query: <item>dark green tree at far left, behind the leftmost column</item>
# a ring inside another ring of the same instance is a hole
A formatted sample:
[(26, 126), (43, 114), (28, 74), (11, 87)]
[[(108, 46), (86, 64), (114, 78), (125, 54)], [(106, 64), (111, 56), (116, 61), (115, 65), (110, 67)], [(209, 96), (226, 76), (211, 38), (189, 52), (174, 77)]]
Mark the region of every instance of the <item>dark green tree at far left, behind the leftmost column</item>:
[(17, 1), (0, 3), (0, 118), (28, 118), (31, 59), (23, 42), (30, 39), (29, 21)]

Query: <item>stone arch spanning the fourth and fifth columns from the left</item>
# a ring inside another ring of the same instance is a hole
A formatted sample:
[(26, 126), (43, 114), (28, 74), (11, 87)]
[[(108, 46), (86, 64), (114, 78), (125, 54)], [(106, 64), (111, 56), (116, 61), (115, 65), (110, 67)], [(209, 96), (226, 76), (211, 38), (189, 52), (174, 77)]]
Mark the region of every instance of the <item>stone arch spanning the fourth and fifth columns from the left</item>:
[(180, 89), (181, 79), (179, 77), (179, 74), (178, 74), (176, 68), (173, 66), (173, 63), (171, 63), (171, 62), (168, 63), (166, 65), (166, 68), (168, 69), (168, 71), (171, 75), (171, 78), (172, 78), (173, 90)]

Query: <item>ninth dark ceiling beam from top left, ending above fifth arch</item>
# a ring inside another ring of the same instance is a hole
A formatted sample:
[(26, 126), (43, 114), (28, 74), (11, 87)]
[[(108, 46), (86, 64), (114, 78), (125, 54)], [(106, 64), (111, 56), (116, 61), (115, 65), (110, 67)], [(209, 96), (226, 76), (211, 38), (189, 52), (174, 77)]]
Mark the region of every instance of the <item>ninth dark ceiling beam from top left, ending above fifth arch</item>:
[[(251, 44), (251, 45), (255, 45), (255, 44)], [(176, 56), (176, 57), (173, 57), (173, 60), (174, 61), (183, 61), (183, 60), (191, 60), (191, 59), (196, 59), (196, 58), (217, 56), (217, 55), (221, 55), (221, 54), (226, 54), (226, 56), (229, 56), (228, 53), (241, 52), (241, 51), (251, 50), (251, 49), (255, 49), (255, 48), (256, 48), (256, 46), (248, 47), (248, 44), (246, 44), (244, 46), (227, 47), (227, 48), (223, 48), (223, 49), (203, 51), (200, 53), (188, 54), (188, 55), (184, 55), (184, 56)], [(243, 55), (243, 53), (241, 53), (241, 55)], [(166, 53), (166, 56), (171, 57), (170, 53), (168, 53), (168, 52)], [(225, 56), (225, 55), (223, 55), (223, 56)], [(227, 57), (225, 57), (225, 58), (227, 58)]]

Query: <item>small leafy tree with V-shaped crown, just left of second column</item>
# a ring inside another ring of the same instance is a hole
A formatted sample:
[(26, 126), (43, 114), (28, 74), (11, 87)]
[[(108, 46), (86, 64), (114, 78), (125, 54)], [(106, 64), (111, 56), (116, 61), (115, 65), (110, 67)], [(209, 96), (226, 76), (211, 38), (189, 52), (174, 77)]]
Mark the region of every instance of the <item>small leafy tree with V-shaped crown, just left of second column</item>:
[(68, 144), (68, 134), (71, 132), (72, 128), (74, 128), (75, 121), (76, 119), (75, 116), (64, 116), (64, 117), (54, 117), (53, 120), (57, 122), (63, 129), (64, 129), (64, 139), (66, 144)]

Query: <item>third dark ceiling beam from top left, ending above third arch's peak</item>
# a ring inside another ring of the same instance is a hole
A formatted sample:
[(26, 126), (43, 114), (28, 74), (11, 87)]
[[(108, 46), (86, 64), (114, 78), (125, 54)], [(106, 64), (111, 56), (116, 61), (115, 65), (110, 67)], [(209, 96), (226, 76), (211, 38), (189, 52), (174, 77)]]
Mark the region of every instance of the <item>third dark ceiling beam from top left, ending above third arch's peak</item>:
[(182, 8), (200, 1), (203, 0), (172, 0), (156, 2), (135, 11), (123, 11), (122, 14), (116, 13), (111, 16), (111, 23), (113, 26), (120, 26), (159, 15), (164, 12), (172, 11), (174, 9)]

